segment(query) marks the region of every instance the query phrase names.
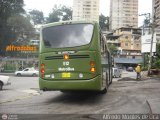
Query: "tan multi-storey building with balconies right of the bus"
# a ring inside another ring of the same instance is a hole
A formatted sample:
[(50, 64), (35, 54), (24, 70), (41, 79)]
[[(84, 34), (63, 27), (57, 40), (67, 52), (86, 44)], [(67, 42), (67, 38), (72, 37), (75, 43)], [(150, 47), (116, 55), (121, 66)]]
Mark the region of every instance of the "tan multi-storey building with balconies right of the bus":
[(115, 30), (120, 43), (120, 56), (124, 58), (141, 58), (141, 29), (121, 27)]

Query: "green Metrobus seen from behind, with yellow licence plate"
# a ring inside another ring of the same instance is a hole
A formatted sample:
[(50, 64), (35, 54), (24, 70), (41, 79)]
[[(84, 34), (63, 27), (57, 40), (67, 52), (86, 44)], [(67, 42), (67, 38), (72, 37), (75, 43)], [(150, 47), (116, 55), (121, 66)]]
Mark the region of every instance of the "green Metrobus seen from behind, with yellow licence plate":
[(40, 90), (107, 92), (112, 58), (97, 22), (67, 21), (42, 26)]

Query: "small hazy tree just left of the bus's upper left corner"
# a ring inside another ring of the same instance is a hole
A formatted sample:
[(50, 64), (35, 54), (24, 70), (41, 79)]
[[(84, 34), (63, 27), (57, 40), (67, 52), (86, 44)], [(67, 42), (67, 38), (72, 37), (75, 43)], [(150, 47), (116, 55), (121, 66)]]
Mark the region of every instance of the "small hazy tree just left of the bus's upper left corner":
[(34, 22), (34, 25), (44, 23), (44, 16), (42, 11), (32, 10), (29, 12), (31, 19)]

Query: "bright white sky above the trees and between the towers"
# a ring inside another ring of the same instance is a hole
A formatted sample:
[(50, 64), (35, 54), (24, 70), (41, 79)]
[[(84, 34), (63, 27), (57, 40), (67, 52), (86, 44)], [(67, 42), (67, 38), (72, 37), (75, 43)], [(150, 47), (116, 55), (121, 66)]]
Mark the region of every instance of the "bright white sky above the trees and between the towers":
[[(26, 11), (31, 11), (33, 9), (40, 10), (47, 17), (55, 4), (65, 5), (68, 7), (73, 6), (73, 0), (24, 0)], [(100, 13), (105, 16), (109, 16), (109, 5), (110, 0), (100, 0)], [(152, 0), (139, 0), (138, 14), (152, 13)], [(142, 25), (144, 16), (139, 16), (138, 25)]]

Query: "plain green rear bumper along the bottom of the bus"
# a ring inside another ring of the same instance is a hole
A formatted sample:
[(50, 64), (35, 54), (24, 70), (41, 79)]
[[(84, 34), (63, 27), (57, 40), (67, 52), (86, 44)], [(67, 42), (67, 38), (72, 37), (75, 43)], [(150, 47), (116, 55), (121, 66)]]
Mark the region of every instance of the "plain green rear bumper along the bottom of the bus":
[(102, 82), (101, 76), (89, 80), (66, 80), (48, 81), (39, 78), (40, 90), (95, 90), (100, 91)]

